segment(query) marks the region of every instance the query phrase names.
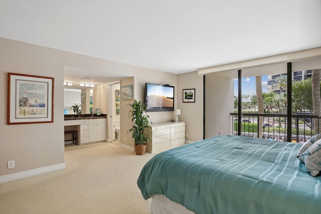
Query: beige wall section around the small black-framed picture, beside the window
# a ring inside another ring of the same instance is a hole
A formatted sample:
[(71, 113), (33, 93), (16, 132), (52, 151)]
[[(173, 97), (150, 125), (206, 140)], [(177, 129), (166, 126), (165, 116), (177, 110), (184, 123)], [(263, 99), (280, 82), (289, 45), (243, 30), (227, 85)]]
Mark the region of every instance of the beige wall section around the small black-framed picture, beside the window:
[[(197, 72), (178, 75), (177, 81), (178, 109), (181, 109), (179, 121), (185, 122), (186, 141), (199, 141), (203, 139), (203, 76)], [(195, 89), (195, 103), (183, 103), (183, 89)]]

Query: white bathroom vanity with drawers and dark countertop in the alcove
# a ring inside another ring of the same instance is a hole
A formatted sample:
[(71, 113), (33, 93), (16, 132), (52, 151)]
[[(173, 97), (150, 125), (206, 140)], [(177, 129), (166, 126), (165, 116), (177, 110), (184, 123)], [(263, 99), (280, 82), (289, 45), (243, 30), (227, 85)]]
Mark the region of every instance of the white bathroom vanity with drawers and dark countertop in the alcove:
[(65, 115), (65, 131), (77, 131), (78, 145), (104, 142), (106, 141), (106, 118), (106, 114)]

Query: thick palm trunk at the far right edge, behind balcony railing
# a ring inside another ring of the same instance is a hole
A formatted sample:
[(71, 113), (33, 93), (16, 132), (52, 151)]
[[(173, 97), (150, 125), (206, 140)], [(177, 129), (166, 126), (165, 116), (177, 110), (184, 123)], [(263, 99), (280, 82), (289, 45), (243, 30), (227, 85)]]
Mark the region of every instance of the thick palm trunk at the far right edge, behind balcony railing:
[[(314, 115), (321, 115), (320, 79), (321, 69), (312, 70), (312, 104)], [(318, 123), (315, 123), (314, 133), (320, 133), (320, 131), (321, 127), (318, 126)]]

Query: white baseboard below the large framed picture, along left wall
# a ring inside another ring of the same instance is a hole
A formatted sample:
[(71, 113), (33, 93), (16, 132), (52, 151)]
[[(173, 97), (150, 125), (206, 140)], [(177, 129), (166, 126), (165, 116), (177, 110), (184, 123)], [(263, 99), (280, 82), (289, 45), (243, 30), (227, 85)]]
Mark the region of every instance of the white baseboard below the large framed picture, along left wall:
[(31, 169), (27, 171), (17, 172), (13, 174), (3, 175), (3, 176), (0, 176), (0, 183), (5, 183), (12, 180), (18, 180), (24, 177), (29, 177), (37, 174), (46, 173), (46, 172), (57, 171), (64, 168), (66, 168), (65, 162), (55, 164), (55, 165), (45, 166), (41, 168)]

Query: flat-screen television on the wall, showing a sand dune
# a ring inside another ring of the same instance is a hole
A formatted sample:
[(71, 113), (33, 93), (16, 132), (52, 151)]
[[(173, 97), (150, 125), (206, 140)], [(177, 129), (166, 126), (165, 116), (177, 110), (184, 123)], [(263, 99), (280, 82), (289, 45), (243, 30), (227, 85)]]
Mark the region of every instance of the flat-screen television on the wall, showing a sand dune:
[(174, 86), (145, 83), (146, 111), (174, 111)]

